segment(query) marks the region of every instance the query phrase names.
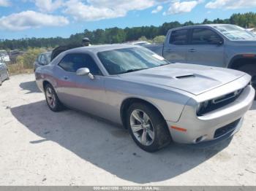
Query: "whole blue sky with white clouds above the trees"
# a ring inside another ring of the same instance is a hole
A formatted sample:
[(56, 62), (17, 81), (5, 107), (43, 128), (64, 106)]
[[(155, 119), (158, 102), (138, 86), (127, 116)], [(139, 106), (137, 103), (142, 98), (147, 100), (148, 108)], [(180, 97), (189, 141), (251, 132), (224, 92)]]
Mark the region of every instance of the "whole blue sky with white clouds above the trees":
[(0, 39), (68, 37), (86, 28), (202, 22), (255, 11), (256, 0), (0, 0)]

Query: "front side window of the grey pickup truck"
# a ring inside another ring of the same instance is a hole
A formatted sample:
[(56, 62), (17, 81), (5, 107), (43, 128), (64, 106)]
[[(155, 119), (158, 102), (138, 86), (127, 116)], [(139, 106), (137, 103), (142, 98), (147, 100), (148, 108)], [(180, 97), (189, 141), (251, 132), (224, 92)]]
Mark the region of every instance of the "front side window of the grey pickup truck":
[(221, 38), (214, 31), (207, 28), (195, 28), (192, 32), (192, 44), (217, 44)]

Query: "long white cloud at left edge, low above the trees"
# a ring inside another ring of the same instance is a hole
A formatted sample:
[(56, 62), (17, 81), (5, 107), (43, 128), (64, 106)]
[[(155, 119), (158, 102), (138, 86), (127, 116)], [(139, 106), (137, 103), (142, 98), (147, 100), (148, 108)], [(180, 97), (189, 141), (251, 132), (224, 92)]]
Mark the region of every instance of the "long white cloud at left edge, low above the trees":
[(65, 26), (69, 24), (66, 17), (47, 15), (40, 12), (25, 11), (0, 17), (0, 29), (21, 31), (42, 26)]

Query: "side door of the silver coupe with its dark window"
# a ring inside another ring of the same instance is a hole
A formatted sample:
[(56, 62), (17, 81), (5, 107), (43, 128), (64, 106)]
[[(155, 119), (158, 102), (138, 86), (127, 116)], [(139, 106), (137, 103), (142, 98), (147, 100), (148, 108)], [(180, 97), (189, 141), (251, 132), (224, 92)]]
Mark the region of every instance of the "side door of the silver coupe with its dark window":
[[(81, 68), (88, 68), (94, 79), (78, 76), (76, 71)], [(56, 91), (62, 103), (91, 114), (104, 114), (104, 76), (90, 55), (70, 53), (56, 66), (55, 72), (58, 76)]]

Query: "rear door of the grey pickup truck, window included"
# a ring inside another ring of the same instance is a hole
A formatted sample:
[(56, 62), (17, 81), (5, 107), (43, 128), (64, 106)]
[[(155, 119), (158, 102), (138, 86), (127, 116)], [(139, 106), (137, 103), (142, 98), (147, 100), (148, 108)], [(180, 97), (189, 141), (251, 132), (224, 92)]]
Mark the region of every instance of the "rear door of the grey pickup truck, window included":
[(163, 56), (171, 63), (187, 63), (188, 29), (171, 31), (169, 42), (165, 42)]

